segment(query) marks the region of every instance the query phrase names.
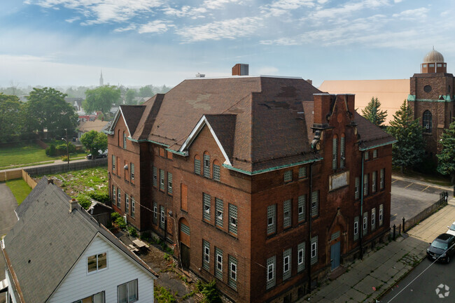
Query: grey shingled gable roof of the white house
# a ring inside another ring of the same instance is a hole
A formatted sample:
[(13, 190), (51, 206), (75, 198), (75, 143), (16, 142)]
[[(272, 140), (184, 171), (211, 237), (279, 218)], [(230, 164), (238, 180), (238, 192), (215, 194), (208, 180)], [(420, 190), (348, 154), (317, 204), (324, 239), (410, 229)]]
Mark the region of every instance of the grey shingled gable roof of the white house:
[(4, 238), (3, 254), (25, 302), (46, 302), (99, 234), (154, 276), (148, 265), (79, 205), (70, 213), (70, 197), (52, 183), (42, 186), (43, 180), (32, 190), (33, 199), (22, 202), (28, 205)]

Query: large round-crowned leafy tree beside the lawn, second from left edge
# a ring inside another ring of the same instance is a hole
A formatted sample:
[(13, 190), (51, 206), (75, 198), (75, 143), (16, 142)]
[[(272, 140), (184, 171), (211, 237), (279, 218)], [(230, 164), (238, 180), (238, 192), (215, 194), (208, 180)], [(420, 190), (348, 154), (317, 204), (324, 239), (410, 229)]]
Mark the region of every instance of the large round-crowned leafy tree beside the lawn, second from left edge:
[(26, 116), (29, 130), (44, 132), (48, 135), (63, 136), (74, 132), (78, 115), (71, 104), (66, 103), (66, 94), (52, 87), (36, 88), (30, 92), (26, 104)]

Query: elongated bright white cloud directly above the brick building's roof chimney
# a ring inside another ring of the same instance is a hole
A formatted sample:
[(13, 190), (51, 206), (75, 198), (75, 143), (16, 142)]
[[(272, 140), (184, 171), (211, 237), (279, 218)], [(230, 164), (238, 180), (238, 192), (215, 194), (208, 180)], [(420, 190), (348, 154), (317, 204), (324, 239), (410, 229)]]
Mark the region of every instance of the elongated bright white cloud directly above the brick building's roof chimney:
[(243, 17), (184, 27), (176, 30), (176, 34), (181, 36), (185, 42), (235, 39), (253, 34), (260, 27), (260, 22), (260, 17)]

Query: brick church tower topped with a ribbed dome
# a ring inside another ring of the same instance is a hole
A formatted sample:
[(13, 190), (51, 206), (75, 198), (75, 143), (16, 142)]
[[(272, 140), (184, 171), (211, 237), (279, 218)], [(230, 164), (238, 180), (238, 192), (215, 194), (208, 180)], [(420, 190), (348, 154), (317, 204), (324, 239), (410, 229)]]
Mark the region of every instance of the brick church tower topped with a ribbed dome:
[(423, 127), (426, 154), (436, 160), (440, 152), (440, 137), (449, 128), (454, 115), (454, 75), (447, 73), (447, 64), (433, 48), (423, 57), (420, 73), (410, 80), (407, 104)]

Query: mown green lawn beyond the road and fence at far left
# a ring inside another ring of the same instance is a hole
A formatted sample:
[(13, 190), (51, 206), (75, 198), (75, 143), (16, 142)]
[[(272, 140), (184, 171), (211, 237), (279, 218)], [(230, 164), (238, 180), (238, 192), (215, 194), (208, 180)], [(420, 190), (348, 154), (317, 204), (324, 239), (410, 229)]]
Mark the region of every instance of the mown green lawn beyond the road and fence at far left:
[[(71, 154), (72, 157), (84, 157), (85, 153)], [(50, 160), (59, 160), (61, 157), (48, 157), (45, 150), (35, 143), (28, 144), (27, 146), (20, 146), (10, 148), (0, 148), (0, 167), (1, 169), (8, 169), (12, 166), (22, 164), (31, 164), (36, 162), (48, 162)]]

